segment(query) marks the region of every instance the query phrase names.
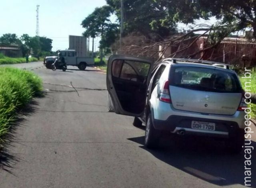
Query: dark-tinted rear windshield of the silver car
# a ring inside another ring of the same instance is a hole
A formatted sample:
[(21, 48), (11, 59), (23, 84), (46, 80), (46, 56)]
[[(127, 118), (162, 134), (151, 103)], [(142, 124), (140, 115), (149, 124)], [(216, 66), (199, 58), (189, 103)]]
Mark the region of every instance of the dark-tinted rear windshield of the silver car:
[(236, 74), (202, 67), (172, 67), (170, 85), (209, 92), (242, 92)]

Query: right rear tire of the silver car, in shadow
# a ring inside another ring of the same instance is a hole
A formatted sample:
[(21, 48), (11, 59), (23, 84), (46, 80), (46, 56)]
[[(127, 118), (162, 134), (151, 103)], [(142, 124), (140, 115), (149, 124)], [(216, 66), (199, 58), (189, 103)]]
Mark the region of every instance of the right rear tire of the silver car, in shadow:
[(244, 145), (244, 130), (238, 131), (236, 136), (230, 137), (225, 142), (228, 153), (239, 154), (242, 151)]

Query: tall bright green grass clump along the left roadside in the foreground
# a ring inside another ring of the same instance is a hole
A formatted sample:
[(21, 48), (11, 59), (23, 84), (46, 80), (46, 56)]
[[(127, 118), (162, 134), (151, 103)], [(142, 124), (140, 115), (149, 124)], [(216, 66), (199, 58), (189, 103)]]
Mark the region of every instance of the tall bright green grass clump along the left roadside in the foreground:
[(41, 95), (42, 80), (32, 72), (10, 67), (0, 67), (0, 75), (0, 141), (3, 141), (18, 110), (32, 97)]

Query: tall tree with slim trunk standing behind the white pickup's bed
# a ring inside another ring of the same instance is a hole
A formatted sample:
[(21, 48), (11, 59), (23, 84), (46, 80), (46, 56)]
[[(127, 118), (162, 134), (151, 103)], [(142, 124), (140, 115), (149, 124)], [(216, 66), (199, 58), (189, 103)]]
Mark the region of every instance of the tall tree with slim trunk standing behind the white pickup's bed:
[(116, 31), (118, 31), (118, 25), (110, 21), (110, 15), (113, 9), (110, 6), (102, 6), (96, 8), (92, 14), (87, 16), (81, 23), (82, 27), (86, 29), (83, 33), (84, 36), (96, 37), (101, 36), (100, 41), (100, 61), (103, 59), (103, 48), (109, 47), (111, 43), (116, 39)]

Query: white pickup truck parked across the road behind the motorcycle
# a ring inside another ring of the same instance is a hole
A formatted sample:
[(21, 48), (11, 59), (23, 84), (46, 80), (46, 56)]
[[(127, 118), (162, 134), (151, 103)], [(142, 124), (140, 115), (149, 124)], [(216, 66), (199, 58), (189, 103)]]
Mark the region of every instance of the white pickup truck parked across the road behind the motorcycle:
[[(87, 65), (94, 65), (94, 58), (92, 57), (77, 57), (75, 50), (59, 50), (58, 53), (65, 58), (67, 65), (76, 66), (80, 70), (86, 69)], [(45, 66), (47, 69), (51, 69), (52, 63), (54, 63), (56, 56), (45, 57)]]

